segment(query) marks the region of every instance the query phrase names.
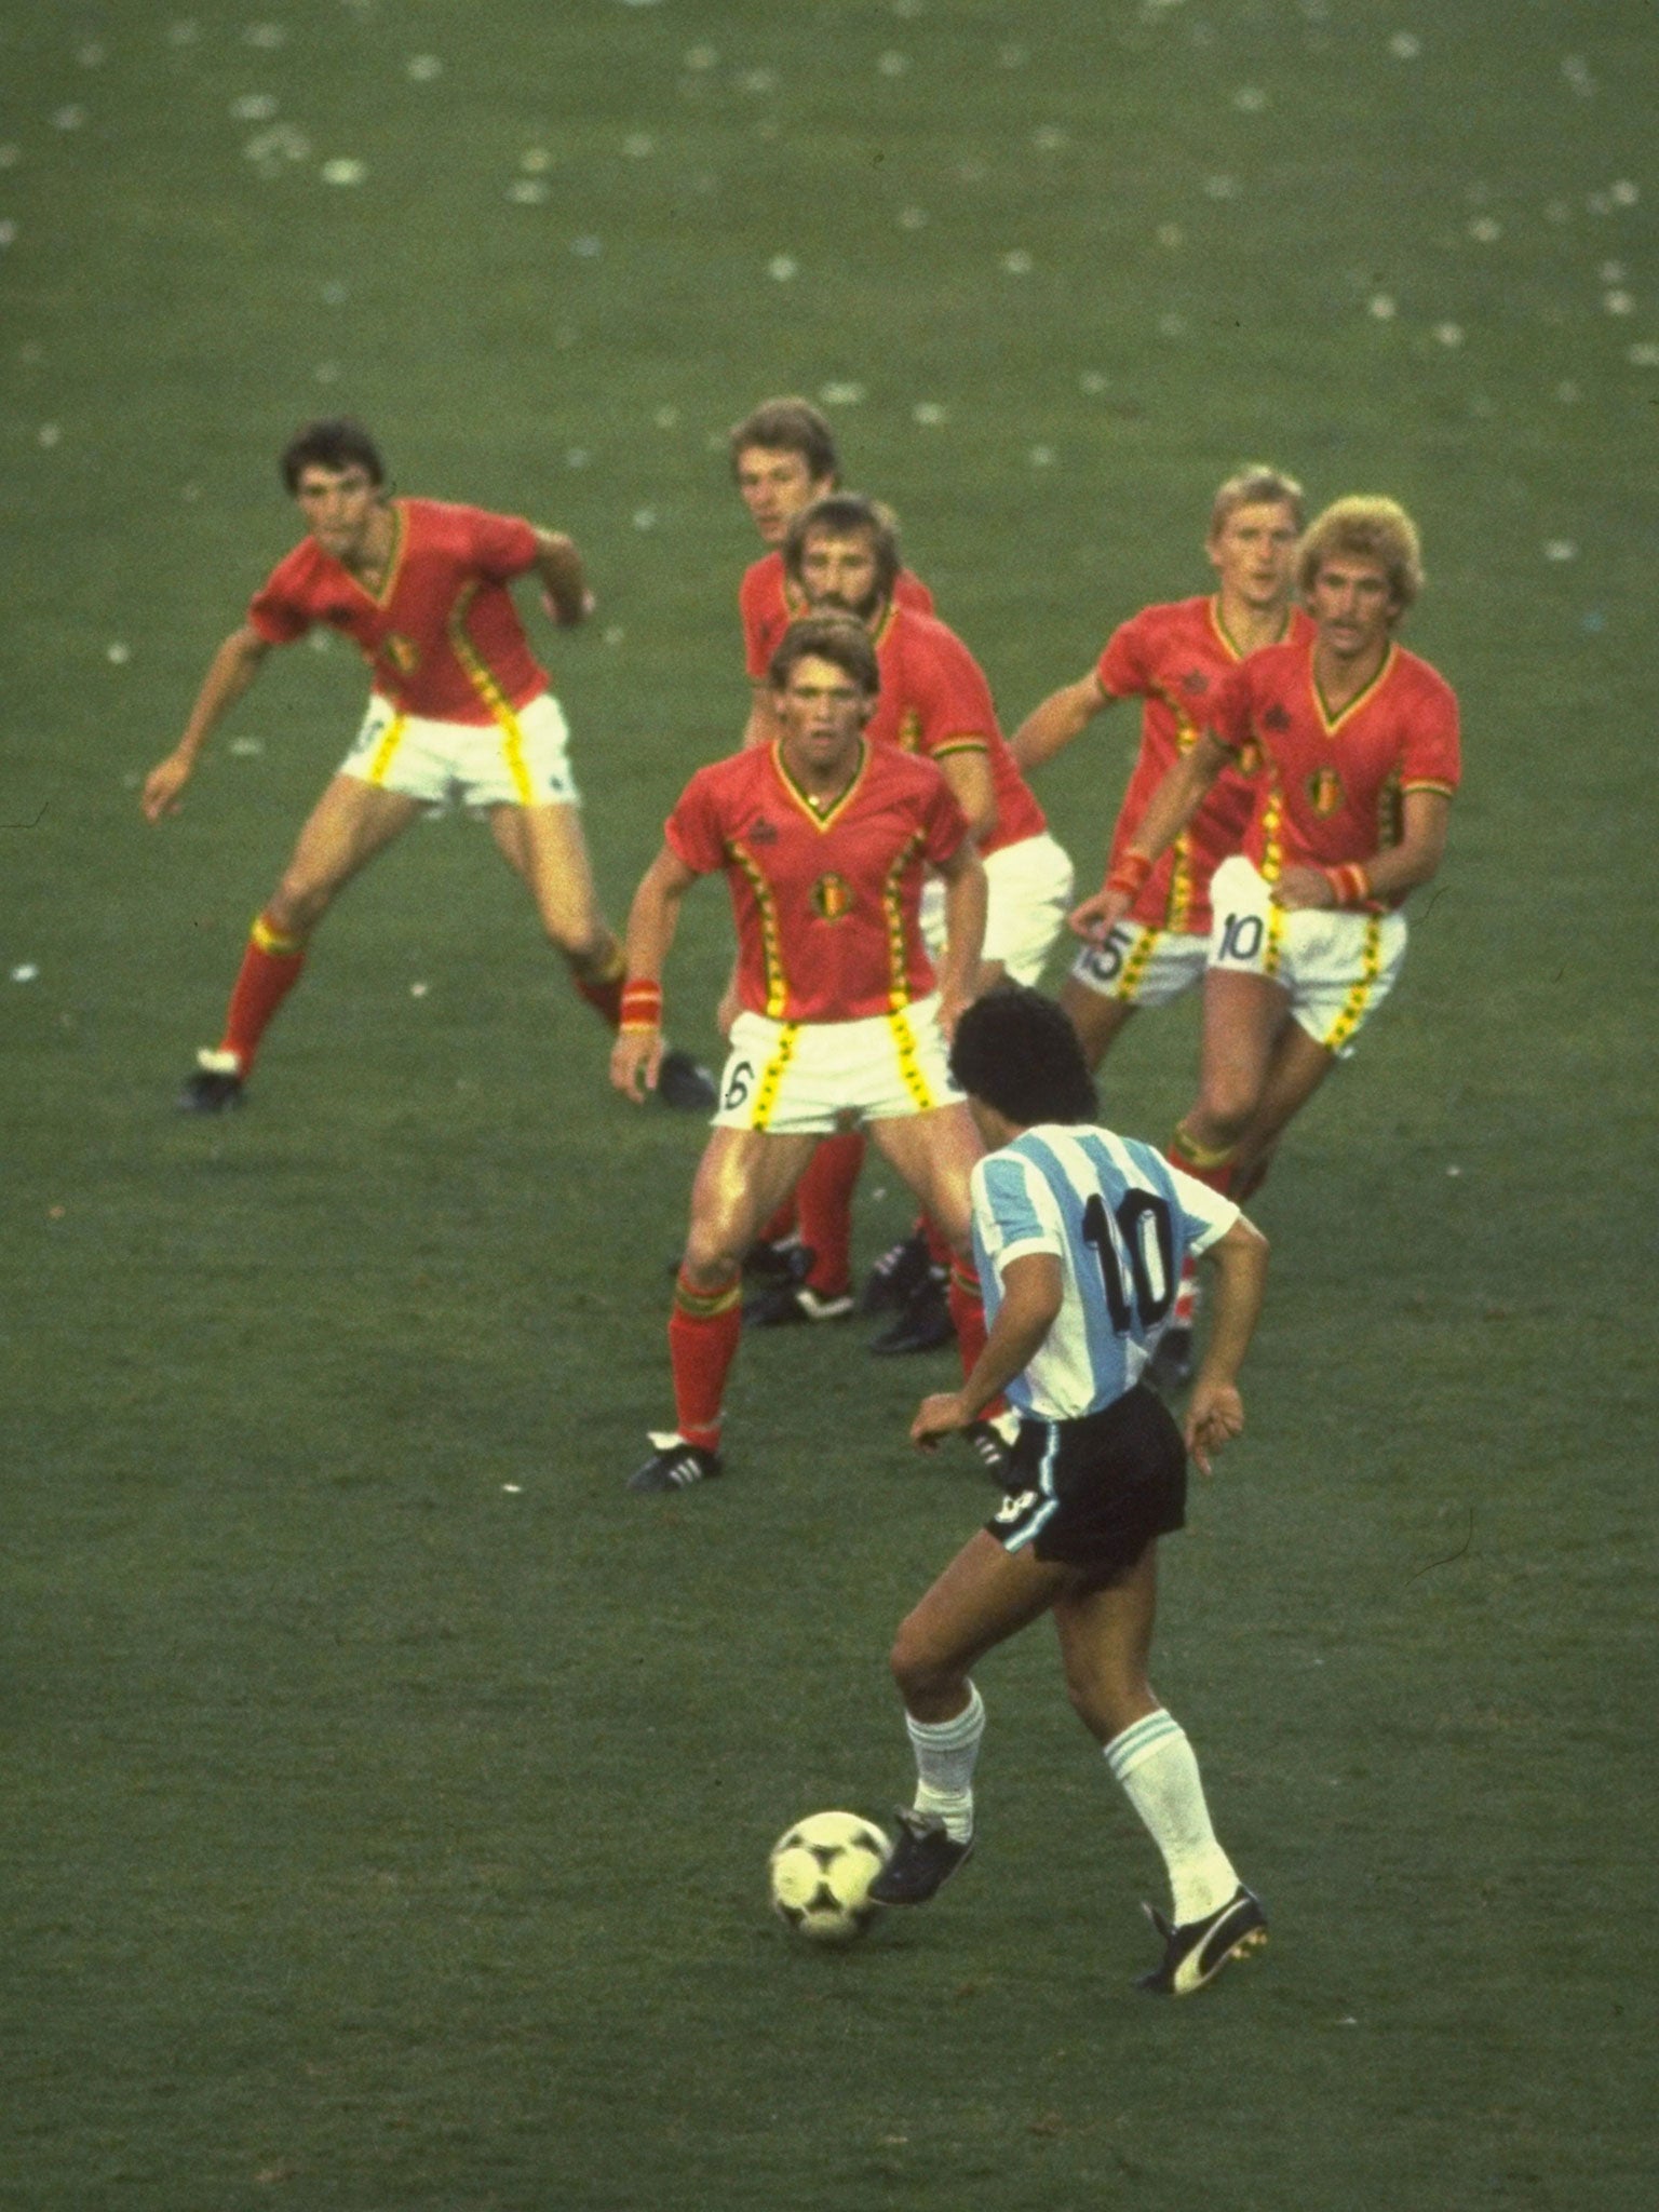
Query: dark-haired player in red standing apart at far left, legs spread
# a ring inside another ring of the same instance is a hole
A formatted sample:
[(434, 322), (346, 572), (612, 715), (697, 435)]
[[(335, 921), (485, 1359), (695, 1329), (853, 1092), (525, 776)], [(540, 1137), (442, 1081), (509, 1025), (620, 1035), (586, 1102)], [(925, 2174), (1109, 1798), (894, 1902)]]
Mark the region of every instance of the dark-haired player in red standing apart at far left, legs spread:
[[(223, 1040), (197, 1055), (179, 1106), (241, 1106), (259, 1042), (299, 982), (316, 925), (425, 807), (449, 801), (489, 814), (575, 989), (615, 1029), (622, 949), (593, 889), (564, 714), (509, 593), (513, 577), (533, 571), (553, 622), (586, 622), (593, 595), (575, 544), (478, 507), (389, 498), (374, 440), (349, 420), (310, 422), (283, 451), (281, 473), (310, 535), (215, 653), (184, 737), (146, 776), (144, 814), (157, 823), (177, 810), (212, 730), (270, 648), (294, 644), (312, 624), (327, 622), (358, 644), (374, 688), (352, 750), (254, 920)], [(708, 1110), (712, 1079), (690, 1055), (668, 1053), (661, 1097)]]

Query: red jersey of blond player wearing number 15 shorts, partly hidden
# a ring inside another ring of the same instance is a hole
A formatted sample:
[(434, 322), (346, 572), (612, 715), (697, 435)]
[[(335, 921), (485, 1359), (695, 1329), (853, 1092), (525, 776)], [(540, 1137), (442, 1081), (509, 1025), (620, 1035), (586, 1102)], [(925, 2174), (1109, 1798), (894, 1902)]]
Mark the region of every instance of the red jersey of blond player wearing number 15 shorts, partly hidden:
[[(1285, 624), (1287, 644), (1305, 644), (1314, 635), (1312, 619), (1294, 608)], [(1124, 805), (1117, 810), (1110, 874), (1124, 847), (1135, 843), (1141, 814), (1168, 770), (1192, 750), (1203, 710), (1241, 653), (1221, 626), (1221, 604), (1214, 597), (1175, 599), (1146, 606), (1113, 630), (1095, 675), (1108, 699), (1144, 699), (1141, 750), (1128, 776)], [(1128, 909), (1148, 929), (1179, 929), (1206, 936), (1210, 929), (1210, 876), (1243, 843), (1245, 823), (1256, 805), (1256, 787), (1239, 768), (1223, 768), (1203, 805), (1181, 836), (1161, 854), (1157, 867)]]

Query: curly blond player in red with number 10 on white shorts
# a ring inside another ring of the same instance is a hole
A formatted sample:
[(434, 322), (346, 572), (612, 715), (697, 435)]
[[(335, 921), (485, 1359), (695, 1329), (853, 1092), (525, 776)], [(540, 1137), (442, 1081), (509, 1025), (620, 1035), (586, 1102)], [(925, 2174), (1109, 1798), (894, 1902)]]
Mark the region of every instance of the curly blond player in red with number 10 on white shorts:
[(1394, 641), (1422, 588), (1407, 511), (1336, 500), (1303, 540), (1298, 586), (1312, 639), (1232, 670), (1203, 737), (1071, 918), (1104, 942), (1223, 770), (1250, 774), (1243, 852), (1210, 880), (1199, 1097), (1170, 1144), (1177, 1166), (1239, 1197), (1394, 989), (1400, 905), (1440, 867), (1460, 776), (1458, 697)]

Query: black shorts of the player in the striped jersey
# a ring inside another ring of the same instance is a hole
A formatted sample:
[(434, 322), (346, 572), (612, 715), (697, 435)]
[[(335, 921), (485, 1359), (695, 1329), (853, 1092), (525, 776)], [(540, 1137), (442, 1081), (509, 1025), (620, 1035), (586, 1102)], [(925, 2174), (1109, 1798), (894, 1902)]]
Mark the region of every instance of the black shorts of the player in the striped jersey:
[(1082, 1420), (1020, 1420), (1009, 1498), (987, 1535), (1075, 1566), (1084, 1588), (1121, 1582), (1146, 1546), (1186, 1526), (1186, 1444), (1144, 1383)]

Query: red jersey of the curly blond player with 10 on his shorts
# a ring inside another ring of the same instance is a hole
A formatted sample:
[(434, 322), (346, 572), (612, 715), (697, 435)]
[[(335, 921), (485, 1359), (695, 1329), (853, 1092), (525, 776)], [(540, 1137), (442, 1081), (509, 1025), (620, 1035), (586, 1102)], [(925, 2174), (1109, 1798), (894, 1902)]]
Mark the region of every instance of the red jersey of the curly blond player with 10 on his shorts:
[(1405, 646), (1338, 714), (1318, 695), (1312, 644), (1267, 646), (1221, 684), (1208, 726), (1241, 761), (1259, 754), (1243, 849), (1267, 883), (1371, 860), (1400, 843), (1405, 792), (1458, 790), (1458, 695)]

